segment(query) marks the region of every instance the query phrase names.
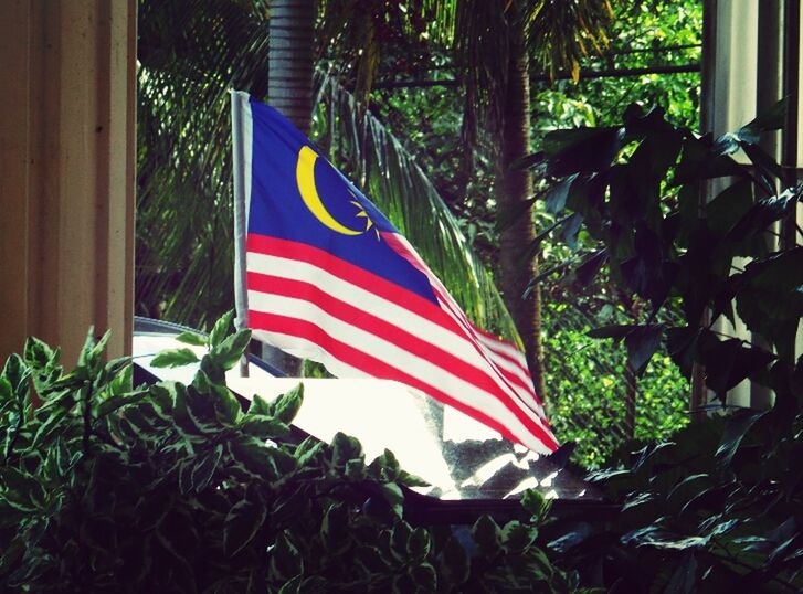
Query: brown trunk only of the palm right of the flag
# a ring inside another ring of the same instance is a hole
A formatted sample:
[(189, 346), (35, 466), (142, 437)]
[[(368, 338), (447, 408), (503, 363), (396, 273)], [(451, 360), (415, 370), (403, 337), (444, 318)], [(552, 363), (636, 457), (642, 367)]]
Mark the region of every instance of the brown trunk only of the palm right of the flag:
[[(510, 212), (532, 194), (529, 171), (513, 171), (510, 163), (530, 151), (530, 87), (528, 56), (522, 24), (511, 19), (511, 40), (507, 64), (507, 88), (501, 106), (499, 153), (496, 171), (497, 216)], [(543, 349), (541, 346), (541, 291), (539, 287), (527, 299), (522, 295), (527, 284), (537, 275), (538, 261), (521, 263), (521, 253), (536, 236), (531, 216), (522, 214), (499, 236), (500, 288), (505, 303), (521, 335), (527, 364), (532, 373), (536, 391), (546, 397), (543, 380)]]

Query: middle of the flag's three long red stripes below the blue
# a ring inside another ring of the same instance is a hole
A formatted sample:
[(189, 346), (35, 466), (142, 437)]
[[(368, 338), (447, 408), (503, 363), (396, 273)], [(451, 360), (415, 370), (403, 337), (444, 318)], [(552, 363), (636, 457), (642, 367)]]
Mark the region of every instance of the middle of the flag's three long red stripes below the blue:
[(330, 316), (355, 328), (381, 337), (411, 354), (426, 361), (437, 361), (439, 367), (488, 392), (518, 416), (518, 407), (510, 402), (510, 397), (504, 393), (500, 394), (499, 385), (486, 372), (467, 363), (454, 353), (441, 349), (433, 342), (423, 340), (385, 319), (334, 297), (311, 283), (252, 272), (247, 273), (247, 287), (250, 290), (258, 293), (279, 295), (315, 304)]

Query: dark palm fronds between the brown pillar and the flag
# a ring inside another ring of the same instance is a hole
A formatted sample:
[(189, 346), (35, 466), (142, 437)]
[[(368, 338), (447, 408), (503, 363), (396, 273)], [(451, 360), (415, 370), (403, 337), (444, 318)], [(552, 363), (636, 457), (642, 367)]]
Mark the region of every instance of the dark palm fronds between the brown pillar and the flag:
[(264, 7), (234, 0), (140, 3), (138, 314), (203, 328), (231, 308), (231, 87), (262, 96)]

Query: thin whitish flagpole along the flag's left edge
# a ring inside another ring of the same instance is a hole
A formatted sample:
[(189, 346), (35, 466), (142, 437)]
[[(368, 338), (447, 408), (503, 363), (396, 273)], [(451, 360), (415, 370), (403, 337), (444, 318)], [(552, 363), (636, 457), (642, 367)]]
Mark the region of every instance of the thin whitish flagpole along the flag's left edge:
[[(243, 100), (247, 95), (241, 91), (230, 91), (232, 108), (232, 168), (234, 192), (234, 307), (237, 330), (249, 325), (249, 295), (245, 289), (245, 150), (243, 146)], [(249, 376), (249, 360), (240, 359), (240, 376)]]

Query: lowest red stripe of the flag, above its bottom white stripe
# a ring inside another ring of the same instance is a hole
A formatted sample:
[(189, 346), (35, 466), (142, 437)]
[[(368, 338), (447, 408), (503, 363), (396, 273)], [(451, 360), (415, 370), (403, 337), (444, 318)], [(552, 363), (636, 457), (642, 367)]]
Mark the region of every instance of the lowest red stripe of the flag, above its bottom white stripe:
[[(335, 339), (324, 329), (308, 320), (299, 320), (277, 314), (266, 314), (264, 311), (250, 310), (249, 322), (252, 328), (257, 330), (279, 332), (283, 335), (309, 340), (310, 342), (314, 342), (324, 348), (336, 359), (361, 370), (368, 375), (388, 380), (395, 380), (406, 385), (410, 385), (411, 388), (415, 388), (416, 390), (420, 390), (425, 394), (429, 394), (440, 400), (444, 404), (448, 404), (450, 406), (457, 409), (464, 414), (476, 418), (477, 421), (480, 421), (487, 426), (501, 433), (507, 438), (515, 442), (520, 442), (520, 438), (514, 435), (507, 427), (501, 425), (501, 423), (494, 420), (493, 417), (484, 414), (482, 411), (472, 409), (463, 402), (454, 400), (452, 396), (442, 392), (437, 388), (430, 385), (426, 382), (421, 381), (419, 378), (414, 378), (403, 372), (402, 370), (388, 364), (385, 361), (377, 359), (376, 357), (371, 357), (370, 354), (362, 352), (350, 344), (346, 344), (345, 342)], [(519, 418), (519, 421), (525, 426), (525, 428), (527, 428), (527, 431), (529, 431), (547, 448), (551, 450), (557, 449), (558, 445), (554, 439), (538, 424), (533, 423), (526, 416), (525, 418)]]

